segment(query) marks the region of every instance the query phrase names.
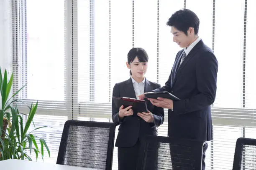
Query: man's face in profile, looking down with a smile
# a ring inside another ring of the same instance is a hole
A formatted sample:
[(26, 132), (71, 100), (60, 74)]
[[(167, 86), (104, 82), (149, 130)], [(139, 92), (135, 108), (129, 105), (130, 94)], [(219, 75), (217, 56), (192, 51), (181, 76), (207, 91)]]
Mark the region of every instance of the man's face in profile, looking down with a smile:
[[(190, 29), (190, 28), (189, 28)], [(172, 40), (176, 42), (179, 47), (188, 47), (191, 44), (191, 32), (189, 30), (187, 31), (188, 35), (186, 35), (184, 32), (177, 30), (175, 27), (171, 27), (171, 33), (173, 35)]]

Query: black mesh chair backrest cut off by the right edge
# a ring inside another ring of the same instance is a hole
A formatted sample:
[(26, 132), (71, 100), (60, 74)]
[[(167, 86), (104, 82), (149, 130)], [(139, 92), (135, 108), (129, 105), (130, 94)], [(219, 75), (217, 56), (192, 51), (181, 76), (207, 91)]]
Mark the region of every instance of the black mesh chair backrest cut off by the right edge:
[(233, 170), (256, 170), (256, 139), (236, 140)]

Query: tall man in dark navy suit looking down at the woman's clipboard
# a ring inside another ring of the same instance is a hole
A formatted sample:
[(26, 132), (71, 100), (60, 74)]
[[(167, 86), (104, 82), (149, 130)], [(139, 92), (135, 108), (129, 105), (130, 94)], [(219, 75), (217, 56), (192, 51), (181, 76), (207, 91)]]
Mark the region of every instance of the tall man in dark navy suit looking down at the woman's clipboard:
[[(158, 97), (149, 99), (158, 107), (168, 108), (168, 135), (174, 138), (212, 140), (211, 105), (215, 100), (218, 61), (212, 50), (198, 36), (199, 18), (188, 9), (175, 12), (167, 25), (173, 41), (184, 49), (175, 58), (171, 74), (163, 87), (181, 100)], [(144, 95), (139, 97), (144, 98)], [(203, 148), (202, 169), (205, 169)]]

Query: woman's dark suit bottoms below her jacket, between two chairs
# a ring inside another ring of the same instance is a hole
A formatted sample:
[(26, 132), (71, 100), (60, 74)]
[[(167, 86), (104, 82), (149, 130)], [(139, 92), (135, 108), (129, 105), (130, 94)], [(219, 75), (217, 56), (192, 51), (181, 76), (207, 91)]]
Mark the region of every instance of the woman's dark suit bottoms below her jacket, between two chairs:
[(132, 147), (118, 147), (118, 170), (136, 170), (140, 141)]

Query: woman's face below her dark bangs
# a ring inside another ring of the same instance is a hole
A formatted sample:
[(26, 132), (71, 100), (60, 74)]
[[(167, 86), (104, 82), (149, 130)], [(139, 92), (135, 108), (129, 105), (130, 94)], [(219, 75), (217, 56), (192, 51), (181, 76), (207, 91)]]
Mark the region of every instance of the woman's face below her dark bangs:
[(148, 62), (139, 62), (136, 57), (130, 65), (126, 63), (127, 67), (131, 70), (133, 78), (144, 78), (144, 75), (148, 69)]

